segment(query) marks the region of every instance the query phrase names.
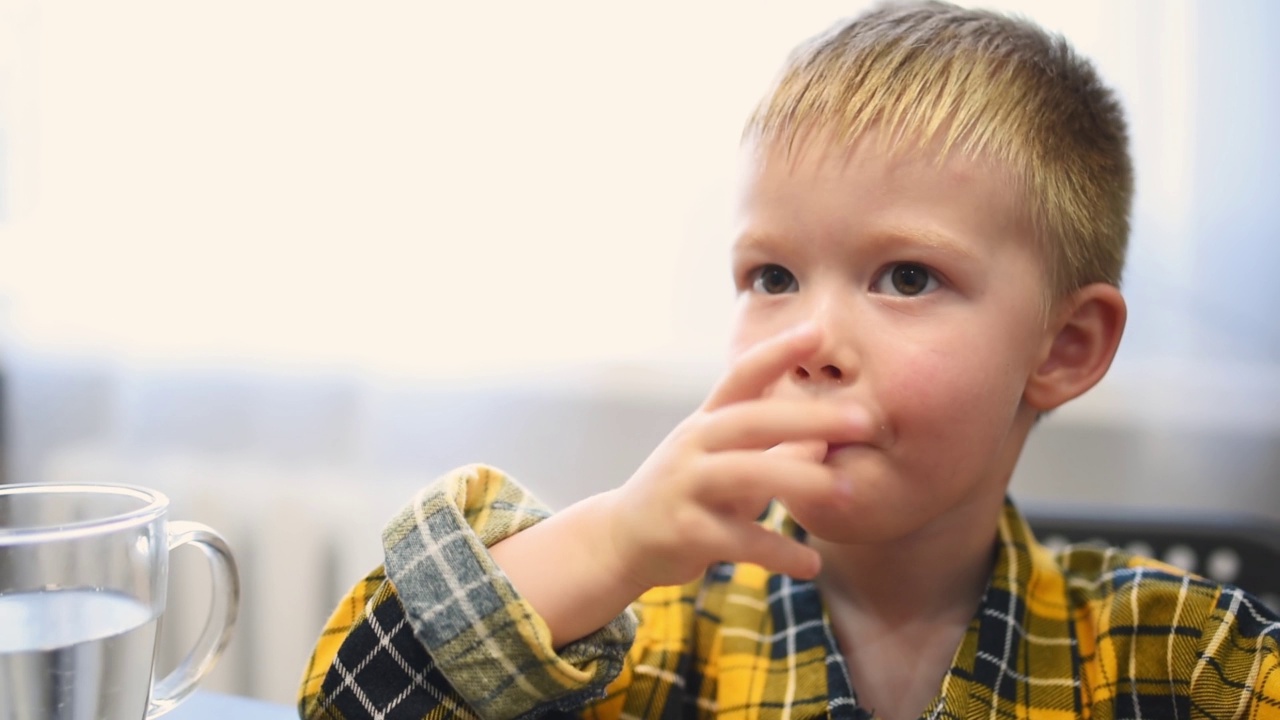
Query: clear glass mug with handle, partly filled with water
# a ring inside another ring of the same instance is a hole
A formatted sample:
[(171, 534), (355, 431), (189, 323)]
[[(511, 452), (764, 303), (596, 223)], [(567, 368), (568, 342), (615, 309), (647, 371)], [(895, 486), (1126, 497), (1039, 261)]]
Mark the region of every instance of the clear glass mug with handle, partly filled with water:
[[(169, 498), (114, 484), (0, 486), (0, 720), (141, 720), (196, 688), (230, 641), (239, 574), (227, 542), (169, 521)], [(209, 620), (152, 687), (169, 552), (204, 551)]]

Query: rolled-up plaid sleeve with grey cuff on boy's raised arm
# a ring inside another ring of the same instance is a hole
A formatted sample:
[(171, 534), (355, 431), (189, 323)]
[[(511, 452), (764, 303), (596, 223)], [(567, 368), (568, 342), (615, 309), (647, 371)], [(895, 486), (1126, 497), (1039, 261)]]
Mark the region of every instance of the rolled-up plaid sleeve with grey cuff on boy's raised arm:
[(603, 696), (631, 644), (632, 615), (556, 652), (486, 551), (545, 516), (524, 488), (483, 466), (419, 493), (384, 530), (385, 570), (358, 583), (326, 624), (301, 715), (512, 717)]

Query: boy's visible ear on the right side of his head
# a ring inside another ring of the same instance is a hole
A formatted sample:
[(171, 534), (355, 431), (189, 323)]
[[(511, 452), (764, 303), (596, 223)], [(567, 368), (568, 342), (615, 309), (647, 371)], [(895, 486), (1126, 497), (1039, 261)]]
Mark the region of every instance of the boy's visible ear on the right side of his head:
[(1027, 380), (1027, 404), (1044, 413), (1097, 384), (1111, 368), (1126, 316), (1124, 297), (1111, 284), (1088, 284), (1064, 300)]

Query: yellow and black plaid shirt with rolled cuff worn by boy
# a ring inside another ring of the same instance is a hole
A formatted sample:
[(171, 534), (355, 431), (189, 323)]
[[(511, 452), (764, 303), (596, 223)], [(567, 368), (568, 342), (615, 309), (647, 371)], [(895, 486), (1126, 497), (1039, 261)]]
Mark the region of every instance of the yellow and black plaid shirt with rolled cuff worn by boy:
[[(334, 611), (307, 719), (865, 719), (813, 583), (716, 565), (556, 652), (486, 547), (548, 510), (500, 471), (424, 488)], [(799, 537), (781, 511), (765, 523)], [(637, 623), (639, 619), (639, 623)], [(1280, 619), (1115, 550), (1037, 544), (1010, 503), (978, 612), (923, 717), (1280, 717)]]

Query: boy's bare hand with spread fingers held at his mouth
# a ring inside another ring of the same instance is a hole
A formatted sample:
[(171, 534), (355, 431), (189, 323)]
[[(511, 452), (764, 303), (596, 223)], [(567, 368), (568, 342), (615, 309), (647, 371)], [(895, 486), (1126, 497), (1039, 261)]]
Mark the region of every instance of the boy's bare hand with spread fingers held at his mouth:
[(774, 497), (844, 502), (851, 479), (822, 464), (827, 442), (870, 433), (860, 411), (820, 398), (767, 397), (818, 347), (805, 328), (764, 341), (728, 370), (707, 401), (611, 492), (612, 557), (639, 594), (682, 584), (717, 561), (755, 562), (799, 578), (818, 573), (818, 553), (756, 524)]

